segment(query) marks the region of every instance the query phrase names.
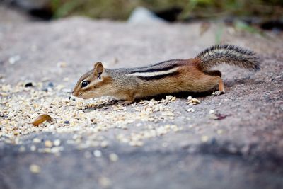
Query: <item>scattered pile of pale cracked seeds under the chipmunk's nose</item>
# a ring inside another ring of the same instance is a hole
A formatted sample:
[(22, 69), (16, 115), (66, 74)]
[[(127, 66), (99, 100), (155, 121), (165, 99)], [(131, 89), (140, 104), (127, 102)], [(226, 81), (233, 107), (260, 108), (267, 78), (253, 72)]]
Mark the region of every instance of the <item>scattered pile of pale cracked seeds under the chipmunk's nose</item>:
[[(42, 90), (42, 86), (42, 83), (33, 83), (28, 87), (19, 83), (16, 86), (3, 84), (0, 87), (0, 140), (21, 144), (21, 137), (27, 134), (67, 132), (74, 134), (73, 139), (67, 143), (78, 144), (80, 149), (108, 147), (108, 141), (101, 133), (115, 130), (118, 142), (140, 147), (144, 139), (182, 129), (178, 125), (168, 125), (175, 119), (173, 110), (168, 107), (168, 103), (176, 99), (173, 96), (166, 96), (161, 101), (152, 99), (123, 106), (112, 103), (110, 98), (69, 99), (69, 94), (64, 92), (68, 90), (64, 86), (47, 90)], [(132, 132), (128, 130), (129, 126), (139, 129)], [(88, 136), (88, 140), (81, 139), (85, 136)], [(33, 143), (40, 142), (41, 139), (33, 139)], [(47, 139), (42, 144), (41, 149), (34, 145), (30, 150), (62, 151), (59, 139)], [(20, 150), (25, 149), (21, 147)]]

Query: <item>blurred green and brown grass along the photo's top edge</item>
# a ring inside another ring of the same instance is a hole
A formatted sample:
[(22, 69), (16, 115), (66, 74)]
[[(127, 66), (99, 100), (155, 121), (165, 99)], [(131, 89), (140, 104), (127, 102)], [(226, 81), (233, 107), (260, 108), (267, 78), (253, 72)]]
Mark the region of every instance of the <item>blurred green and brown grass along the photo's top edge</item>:
[[(54, 18), (83, 15), (125, 20), (137, 6), (152, 11), (178, 7), (179, 20), (218, 16), (282, 16), (282, 0), (51, 0)], [(277, 9), (275, 8), (277, 7)], [(277, 11), (275, 11), (277, 10)]]

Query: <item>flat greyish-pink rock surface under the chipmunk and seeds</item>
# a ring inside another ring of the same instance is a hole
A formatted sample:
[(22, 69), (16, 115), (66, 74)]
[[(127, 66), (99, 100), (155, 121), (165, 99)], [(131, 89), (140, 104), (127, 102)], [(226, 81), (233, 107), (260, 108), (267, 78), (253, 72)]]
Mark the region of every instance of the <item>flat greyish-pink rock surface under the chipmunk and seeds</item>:
[[(72, 88), (93, 62), (117, 68), (194, 57), (214, 44), (217, 30), (212, 25), (200, 35), (200, 23), (144, 26), (86, 18), (3, 23), (1, 85), (52, 81)], [(201, 101), (195, 112), (187, 112), (186, 97), (178, 96), (168, 104), (175, 119), (156, 125), (180, 125), (182, 131), (131, 147), (108, 130), (108, 147), (83, 149), (69, 143), (76, 133), (37, 132), (21, 136), (21, 144), (1, 136), (0, 188), (283, 188), (282, 35), (224, 28), (221, 41), (257, 52), (262, 69), (220, 67), (226, 93), (194, 96)], [(214, 120), (213, 111), (227, 117)], [(127, 127), (128, 134), (139, 131), (137, 122)], [(33, 150), (55, 139), (64, 147), (60, 154)]]

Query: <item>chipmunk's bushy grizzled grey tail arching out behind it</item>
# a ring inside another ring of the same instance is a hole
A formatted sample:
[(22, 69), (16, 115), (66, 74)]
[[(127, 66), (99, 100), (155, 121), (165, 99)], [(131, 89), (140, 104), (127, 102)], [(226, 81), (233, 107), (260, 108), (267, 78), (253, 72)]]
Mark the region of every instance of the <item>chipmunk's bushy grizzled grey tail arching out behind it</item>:
[(214, 45), (200, 52), (197, 58), (200, 59), (199, 66), (203, 70), (219, 64), (229, 64), (254, 71), (260, 69), (259, 58), (255, 52), (234, 45)]

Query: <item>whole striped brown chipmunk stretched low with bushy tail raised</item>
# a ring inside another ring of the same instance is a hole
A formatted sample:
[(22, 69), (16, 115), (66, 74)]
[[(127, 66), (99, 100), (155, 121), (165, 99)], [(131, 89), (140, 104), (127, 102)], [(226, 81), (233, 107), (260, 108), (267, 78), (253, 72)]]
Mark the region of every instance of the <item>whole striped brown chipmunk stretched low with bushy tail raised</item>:
[(204, 92), (217, 88), (224, 93), (221, 72), (211, 70), (218, 64), (230, 64), (257, 71), (260, 69), (255, 52), (233, 45), (214, 45), (192, 59), (171, 59), (146, 67), (105, 69), (96, 62), (83, 74), (72, 92), (79, 98), (114, 96), (125, 103), (158, 94)]

